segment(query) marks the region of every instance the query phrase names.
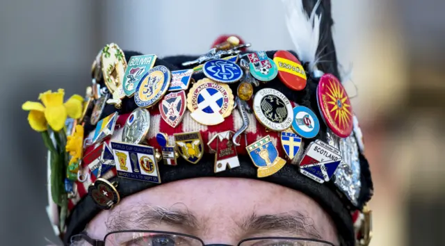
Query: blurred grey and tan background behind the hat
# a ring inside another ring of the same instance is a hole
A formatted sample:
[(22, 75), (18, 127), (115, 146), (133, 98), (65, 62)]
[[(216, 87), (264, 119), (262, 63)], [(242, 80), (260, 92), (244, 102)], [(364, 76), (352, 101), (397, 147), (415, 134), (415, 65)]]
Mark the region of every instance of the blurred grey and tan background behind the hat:
[[(435, 0), (336, 0), (334, 41), (375, 182), (371, 245), (443, 245), (445, 8)], [(0, 3), (0, 245), (58, 243), (47, 214), (46, 151), (21, 110), (45, 90), (84, 95), (99, 49), (202, 54), (220, 34), (293, 49), (281, 1)], [(60, 244), (60, 243), (59, 243)]]

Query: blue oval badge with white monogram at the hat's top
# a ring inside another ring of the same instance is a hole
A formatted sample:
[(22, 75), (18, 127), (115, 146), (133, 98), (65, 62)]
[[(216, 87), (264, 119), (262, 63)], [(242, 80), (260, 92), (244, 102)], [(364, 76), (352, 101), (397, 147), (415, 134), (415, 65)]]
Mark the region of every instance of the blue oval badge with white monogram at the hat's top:
[(229, 60), (209, 60), (204, 63), (202, 71), (207, 78), (221, 83), (234, 83), (243, 77), (241, 67)]

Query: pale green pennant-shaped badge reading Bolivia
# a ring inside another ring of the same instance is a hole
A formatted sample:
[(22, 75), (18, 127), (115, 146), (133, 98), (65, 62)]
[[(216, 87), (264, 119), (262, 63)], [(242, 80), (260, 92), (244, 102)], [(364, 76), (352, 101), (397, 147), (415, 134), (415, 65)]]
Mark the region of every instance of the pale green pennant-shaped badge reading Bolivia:
[(131, 56), (127, 70), (125, 70), (124, 82), (122, 83), (127, 97), (133, 96), (136, 88), (138, 88), (140, 79), (143, 78), (149, 69), (152, 69), (155, 61), (156, 55)]

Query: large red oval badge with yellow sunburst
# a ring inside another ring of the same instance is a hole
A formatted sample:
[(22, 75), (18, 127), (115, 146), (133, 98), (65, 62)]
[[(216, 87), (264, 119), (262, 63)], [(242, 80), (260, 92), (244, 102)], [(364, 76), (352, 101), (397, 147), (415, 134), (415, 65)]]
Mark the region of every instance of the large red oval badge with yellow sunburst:
[(317, 87), (317, 102), (323, 120), (340, 138), (350, 136), (353, 131), (353, 108), (339, 79), (324, 74)]

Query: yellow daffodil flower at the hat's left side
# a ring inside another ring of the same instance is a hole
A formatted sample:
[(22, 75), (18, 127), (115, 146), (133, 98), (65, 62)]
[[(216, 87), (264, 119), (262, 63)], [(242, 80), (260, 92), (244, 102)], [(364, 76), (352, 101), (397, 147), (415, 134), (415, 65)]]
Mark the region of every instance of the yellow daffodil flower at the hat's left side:
[(63, 104), (65, 91), (58, 89), (57, 92), (40, 93), (39, 99), (42, 101), (26, 101), (22, 109), (29, 112), (28, 121), (35, 131), (46, 131), (47, 124), (54, 131), (60, 131), (65, 125), (67, 116), (79, 119), (82, 115), (83, 97), (73, 95)]

